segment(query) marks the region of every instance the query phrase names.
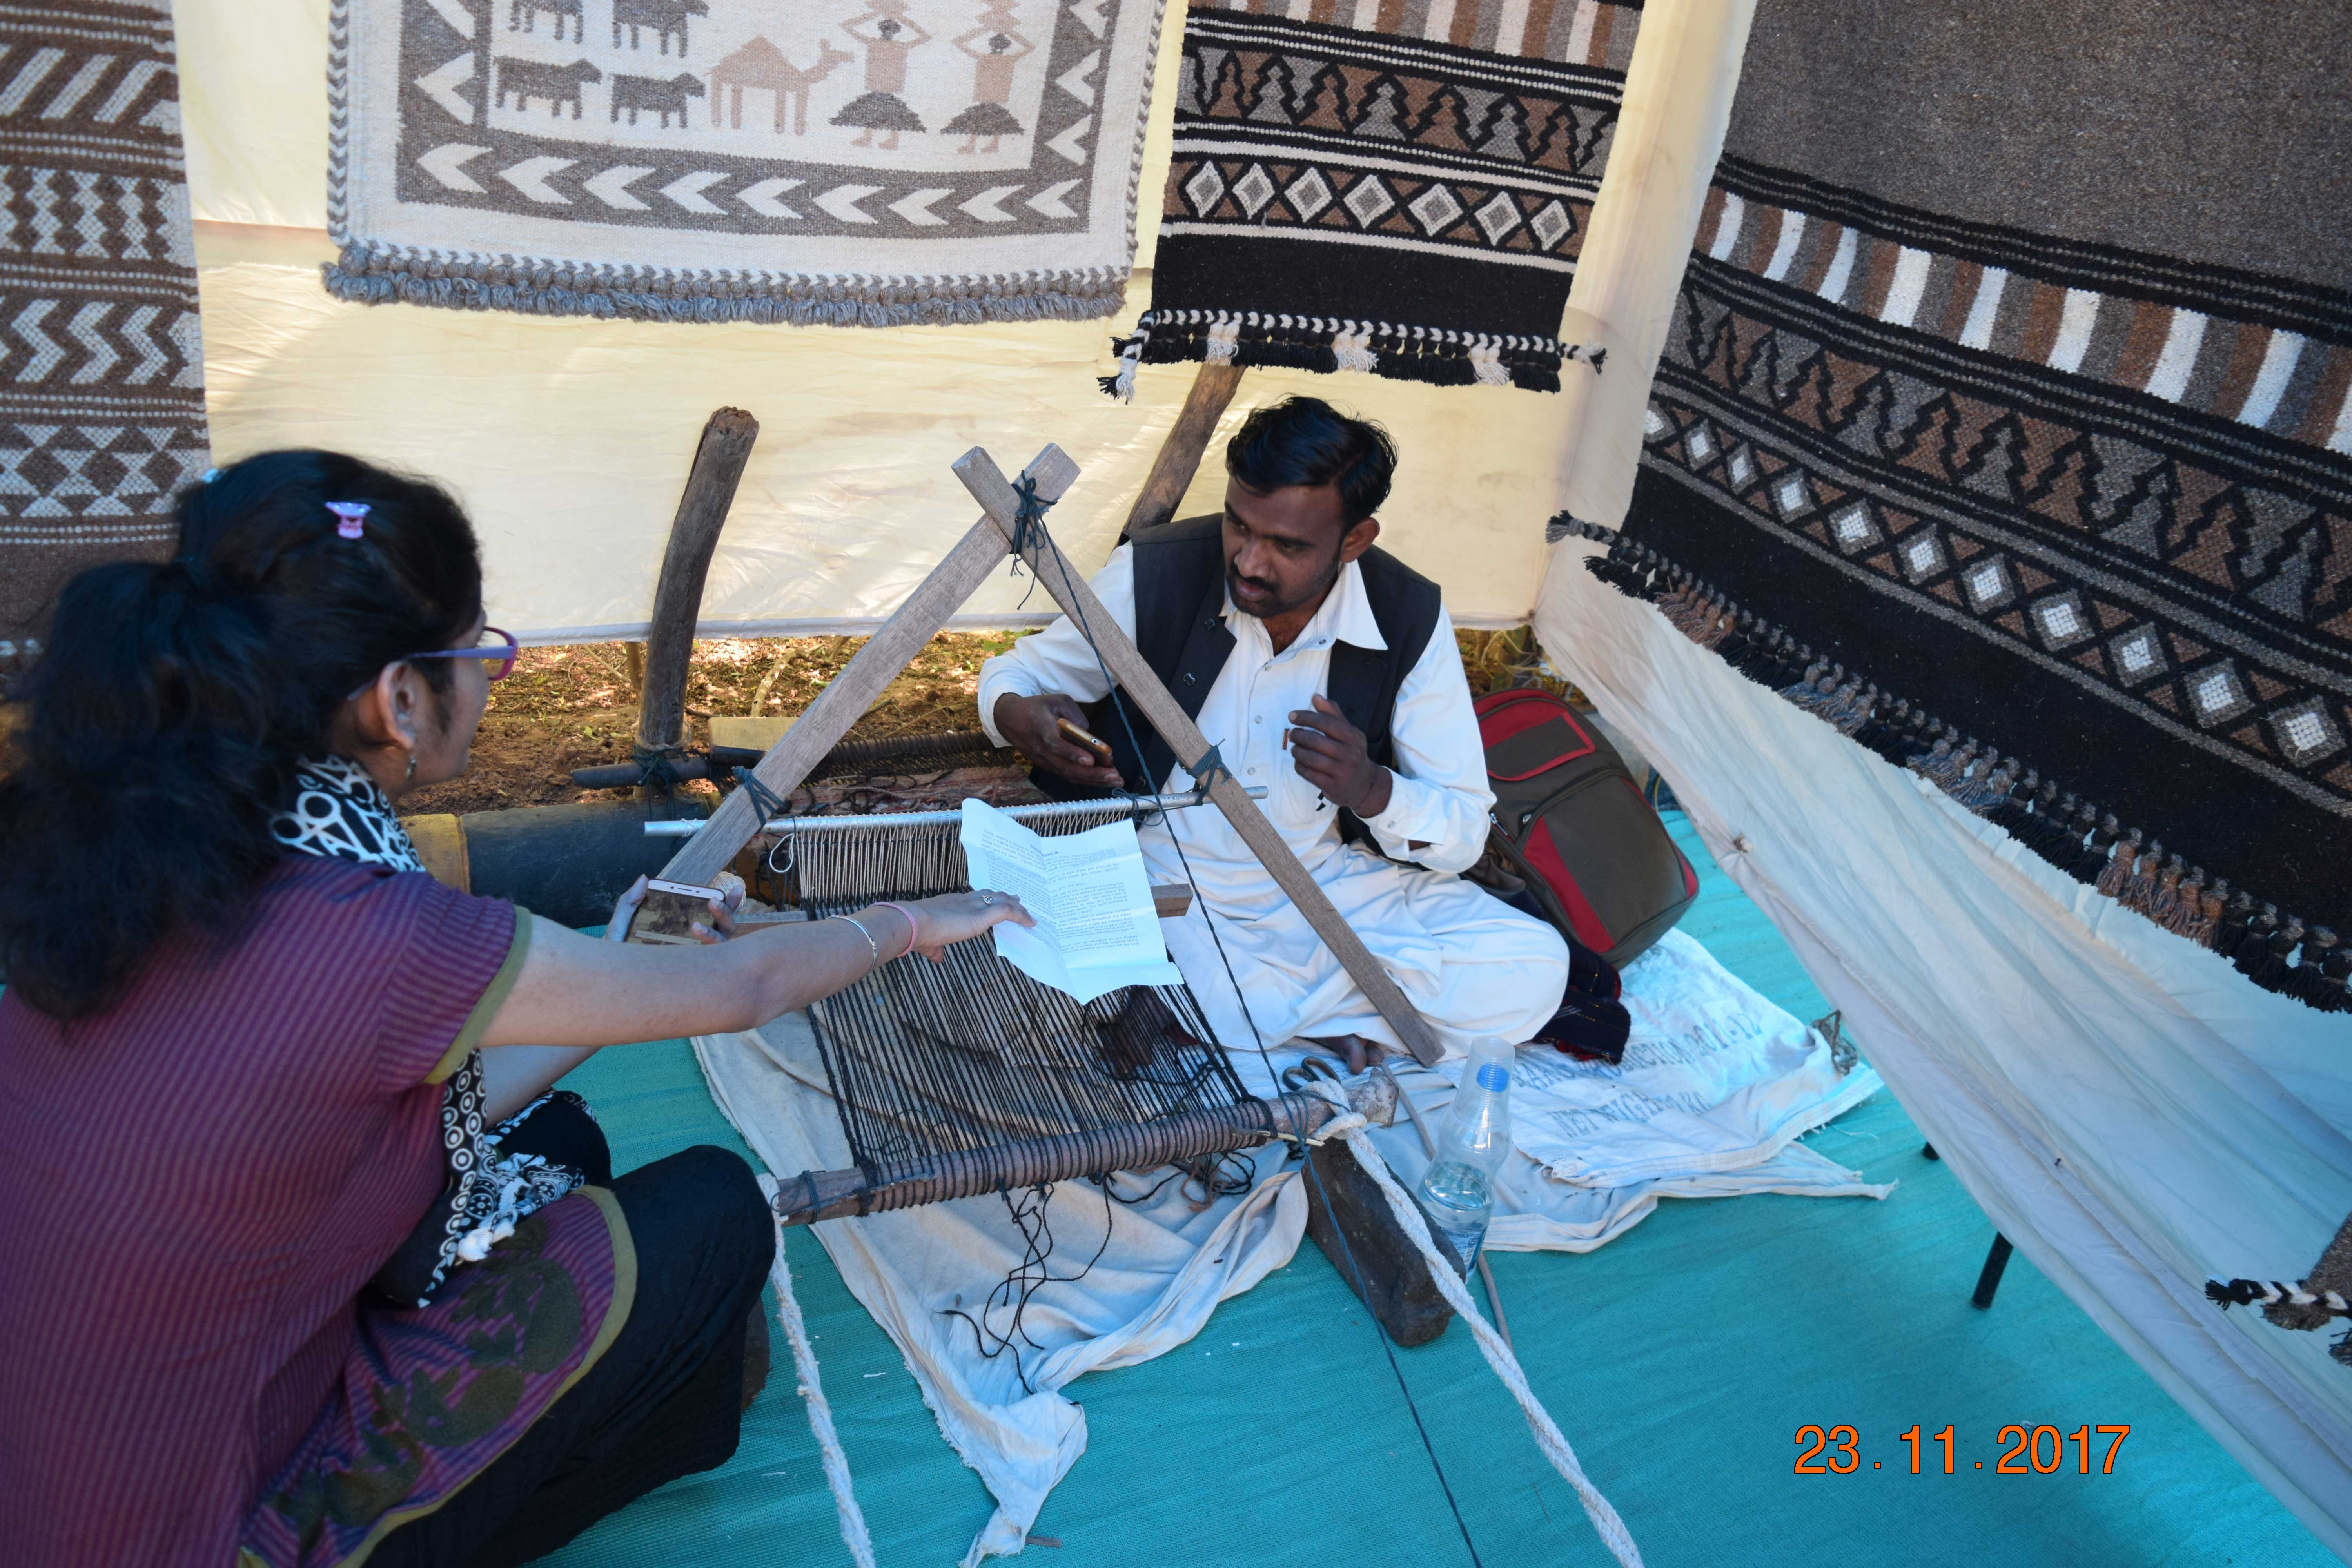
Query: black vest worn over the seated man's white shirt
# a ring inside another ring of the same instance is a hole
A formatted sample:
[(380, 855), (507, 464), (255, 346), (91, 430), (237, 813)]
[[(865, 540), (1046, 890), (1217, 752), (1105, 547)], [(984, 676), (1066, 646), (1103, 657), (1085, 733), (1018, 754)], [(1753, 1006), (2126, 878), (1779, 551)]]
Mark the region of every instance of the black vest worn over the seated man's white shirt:
[[(1209, 701), (1225, 658), (1232, 654), (1232, 632), (1225, 630), (1225, 529), (1223, 517), (1188, 517), (1150, 529), (1134, 541), (1136, 550), (1136, 649), (1143, 663), (1160, 675), (1185, 717), (1197, 719), (1200, 705)], [(1348, 722), (1364, 731), (1367, 750), (1381, 766), (1397, 764), (1397, 748), (1388, 726), (1397, 710), (1397, 689), (1437, 630), (1442, 597), (1437, 583), (1428, 581), (1388, 550), (1374, 545), (1357, 557), (1364, 574), (1364, 597), (1371, 602), (1371, 618), (1388, 639), (1388, 649), (1359, 649), (1352, 642), (1331, 644), (1331, 672), (1324, 696), (1348, 715)], [(1120, 722), (1124, 710), (1127, 724)], [(1136, 795), (1150, 795), (1176, 764), (1176, 748), (1160, 736), (1143, 717), (1143, 710), (1124, 691), (1112, 691), (1110, 701), (1089, 703), (1089, 729), (1110, 741), (1112, 762)], [(1143, 743), (1138, 757), (1127, 733), (1134, 726)], [(1185, 757), (1183, 762), (1197, 762)], [(1098, 795), (1084, 785), (1056, 778), (1044, 769), (1030, 773), (1047, 795), (1063, 799)], [(1352, 811), (1341, 811), (1341, 835), (1369, 842), (1369, 830)]]

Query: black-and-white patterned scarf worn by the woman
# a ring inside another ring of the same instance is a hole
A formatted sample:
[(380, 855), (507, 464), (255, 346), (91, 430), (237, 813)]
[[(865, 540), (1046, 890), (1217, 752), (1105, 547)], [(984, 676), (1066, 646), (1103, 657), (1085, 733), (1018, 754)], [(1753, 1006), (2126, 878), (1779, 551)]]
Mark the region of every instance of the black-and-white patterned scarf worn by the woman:
[[(294, 804), (270, 818), (270, 832), (294, 853), (332, 860), (386, 865), (395, 872), (421, 872), (416, 844), (393, 816), (393, 802), (376, 780), (343, 757), (318, 757), (294, 769)], [(515, 1222), (534, 1208), (579, 1187), (586, 1178), (572, 1166), (555, 1166), (539, 1154), (499, 1154), (499, 1138), (529, 1117), (546, 1095), (522, 1107), (496, 1128), (482, 1126), (482, 1053), (468, 1051), (449, 1077), (442, 1100), (442, 1150), (449, 1159), (449, 1220), (416, 1305), (440, 1291), (442, 1276), (459, 1262), (480, 1262), (489, 1248), (515, 1234)]]

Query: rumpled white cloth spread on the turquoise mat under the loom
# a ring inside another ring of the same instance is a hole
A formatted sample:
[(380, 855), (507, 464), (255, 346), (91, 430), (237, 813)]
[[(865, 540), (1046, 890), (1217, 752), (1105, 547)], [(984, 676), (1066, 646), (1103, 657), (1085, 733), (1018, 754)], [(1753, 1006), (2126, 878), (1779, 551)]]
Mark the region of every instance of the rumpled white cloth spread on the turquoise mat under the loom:
[[(1623, 1070), (1573, 1065), (1541, 1046), (1519, 1053), (1519, 1157), (1501, 1182), (1489, 1246), (1592, 1251), (1661, 1197), (1886, 1192), (1795, 1143), (1867, 1098), (1877, 1088), (1870, 1070), (1839, 1079), (1818, 1034), (1740, 985), (1696, 940), (1670, 933), (1644, 954), (1628, 971), (1628, 1006), (1635, 1032)], [(703, 1037), (694, 1048), (720, 1110), (771, 1173), (790, 1180), (849, 1164), (804, 1016)], [(1261, 1084), (1268, 1065), (1298, 1056), (1268, 1063), (1235, 1051), (1232, 1060), (1244, 1081)], [(1435, 1117), (1454, 1093), (1451, 1072), (1411, 1070), (1402, 1086)], [(1399, 1180), (1418, 1180), (1421, 1147), (1402, 1119), (1378, 1133), (1378, 1147)], [(1056, 1279), (1030, 1298), (1023, 1328), (1044, 1349), (1025, 1349), (1018, 1366), (1011, 1354), (981, 1354), (974, 1326), (950, 1316), (1009, 1328), (1002, 1305), (983, 1312), (1025, 1255), (1002, 1199), (814, 1227), (849, 1291), (906, 1354), (941, 1434), (997, 1500), (967, 1568), (1018, 1552), (1047, 1493), (1084, 1453), (1087, 1413), (1063, 1396), (1073, 1380), (1176, 1349), (1216, 1302), (1289, 1262), (1305, 1232), (1298, 1171), (1284, 1166), (1279, 1147), (1249, 1159), (1251, 1190), (1200, 1213), (1176, 1182), (1138, 1206), (1105, 1204), (1089, 1182), (1054, 1187), (1044, 1208), (1054, 1272), (1075, 1274), (1098, 1244), (1103, 1255), (1082, 1279)], [(1131, 1175), (1117, 1185), (1143, 1192)], [(851, 1469), (856, 1458), (851, 1448)]]

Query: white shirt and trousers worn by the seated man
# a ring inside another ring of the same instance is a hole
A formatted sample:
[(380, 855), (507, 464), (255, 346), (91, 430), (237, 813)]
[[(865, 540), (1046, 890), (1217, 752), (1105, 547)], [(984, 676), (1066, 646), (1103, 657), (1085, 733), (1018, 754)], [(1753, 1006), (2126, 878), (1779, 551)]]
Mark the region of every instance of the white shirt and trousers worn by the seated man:
[[(1110, 555), (1094, 576), (1094, 590), (1120, 630), (1134, 632), (1134, 548)], [(1529, 1039), (1559, 1006), (1569, 954), (1550, 926), (1454, 875), (1484, 849), (1486, 809), (1494, 804), (1454, 623), (1439, 611), (1428, 649), (1397, 691), (1390, 719), (1395, 783), (1388, 811), (1367, 820), (1383, 851), (1430, 870), (1399, 867), (1343, 844), (1338, 813), (1298, 776), (1282, 745), (1289, 715), (1310, 710), (1329, 684), (1331, 644), (1388, 646), (1364, 597), (1362, 569), (1355, 562), (1341, 569), (1338, 583), (1282, 654), (1275, 654), (1265, 623), (1235, 609), (1230, 597), (1225, 628), (1235, 649), (1197, 717), (1225, 766), (1244, 785), (1265, 785), (1261, 809), (1268, 820), (1449, 1053), (1482, 1034)], [(1004, 693), (1063, 691), (1091, 703), (1108, 689), (1080, 630), (1056, 621), (981, 665), (981, 722), (1002, 741), (995, 708)], [(1188, 790), (1192, 776), (1181, 764), (1171, 766), (1162, 788)], [(1425, 849), (1411, 849), (1414, 842)], [(1298, 1034), (1362, 1034), (1402, 1044), (1223, 813), (1209, 806), (1169, 813), (1167, 825), (1143, 832), (1143, 856), (1155, 882), (1190, 882), (1200, 893), (1192, 912), (1171, 924), (1169, 952), (1195, 978), (1221, 1039), (1272, 1046)], [(1232, 983), (1209, 938), (1211, 917), (1249, 1018), (1235, 1009)]]

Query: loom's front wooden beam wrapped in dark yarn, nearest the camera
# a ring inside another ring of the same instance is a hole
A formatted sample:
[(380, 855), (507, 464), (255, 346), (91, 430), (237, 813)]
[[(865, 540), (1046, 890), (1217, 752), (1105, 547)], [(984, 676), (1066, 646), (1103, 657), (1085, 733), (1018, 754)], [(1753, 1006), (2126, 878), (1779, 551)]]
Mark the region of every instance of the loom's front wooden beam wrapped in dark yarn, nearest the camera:
[(1338, 1107), (1319, 1095), (1287, 1093), (1275, 1100), (1188, 1110), (1134, 1126), (943, 1152), (880, 1166), (873, 1178), (863, 1171), (804, 1171), (776, 1185), (774, 1208), (783, 1225), (807, 1225), (1103, 1171), (1152, 1171), (1202, 1154), (1247, 1150), (1268, 1138), (1312, 1135), (1334, 1114)]

